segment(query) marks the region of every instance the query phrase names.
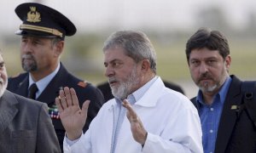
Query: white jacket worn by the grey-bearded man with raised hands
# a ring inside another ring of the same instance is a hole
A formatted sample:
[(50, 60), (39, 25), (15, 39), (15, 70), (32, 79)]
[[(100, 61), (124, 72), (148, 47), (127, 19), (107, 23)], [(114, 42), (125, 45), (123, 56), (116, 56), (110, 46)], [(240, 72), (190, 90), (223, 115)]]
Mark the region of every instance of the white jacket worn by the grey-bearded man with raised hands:
[[(115, 99), (110, 99), (102, 105), (97, 116), (90, 122), (89, 129), (75, 143), (69, 144), (65, 137), (64, 152), (110, 152), (116, 104)], [(203, 152), (201, 123), (195, 106), (183, 94), (166, 88), (160, 77), (157, 77), (141, 99), (137, 99), (132, 108), (148, 132), (146, 142), (142, 148), (142, 145), (133, 139), (131, 123), (125, 117), (115, 152)]]

